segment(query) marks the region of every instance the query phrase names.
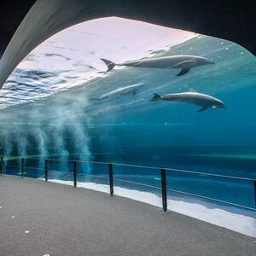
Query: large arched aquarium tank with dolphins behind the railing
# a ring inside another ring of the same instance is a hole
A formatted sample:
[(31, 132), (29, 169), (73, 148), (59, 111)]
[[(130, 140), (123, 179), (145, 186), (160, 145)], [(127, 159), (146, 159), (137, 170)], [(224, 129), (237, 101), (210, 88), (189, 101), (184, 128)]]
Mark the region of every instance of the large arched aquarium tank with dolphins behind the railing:
[(166, 168), (168, 209), (254, 236), (255, 73), (221, 38), (117, 17), (68, 27), (0, 90), (4, 172), (24, 157), (43, 178), (51, 159), (49, 181), (68, 184), (78, 160), (78, 186), (108, 191), (112, 163), (115, 195), (159, 207)]

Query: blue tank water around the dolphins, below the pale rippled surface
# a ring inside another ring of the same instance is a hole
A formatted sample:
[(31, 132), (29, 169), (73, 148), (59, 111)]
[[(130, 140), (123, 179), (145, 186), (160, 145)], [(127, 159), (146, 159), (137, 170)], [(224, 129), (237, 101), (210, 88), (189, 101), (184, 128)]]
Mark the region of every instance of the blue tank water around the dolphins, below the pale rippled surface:
[[(55, 155), (53, 158), (62, 160), (169, 167), (256, 179), (255, 57), (237, 44), (205, 36), (160, 52), (159, 56), (163, 55), (203, 55), (215, 64), (193, 68), (181, 77), (176, 76), (177, 70), (115, 69), (38, 102), (3, 109), (1, 154)], [(136, 96), (94, 100), (137, 83), (147, 85)], [(197, 113), (198, 107), (186, 103), (149, 102), (153, 93), (189, 88), (219, 98), (226, 108)], [(6, 172), (16, 172), (8, 165), (19, 163), (11, 163), (6, 164)], [(44, 174), (42, 163), (27, 162), (27, 166), (39, 168), (27, 169), (28, 176)], [(70, 168), (51, 167), (67, 172)], [(79, 166), (79, 172), (108, 177), (108, 166)], [(115, 177), (160, 187), (158, 170), (114, 166), (113, 172)], [(58, 172), (55, 177), (73, 178), (68, 175)], [(252, 182), (170, 171), (167, 187), (255, 207)], [(139, 185), (132, 188), (146, 189)]]

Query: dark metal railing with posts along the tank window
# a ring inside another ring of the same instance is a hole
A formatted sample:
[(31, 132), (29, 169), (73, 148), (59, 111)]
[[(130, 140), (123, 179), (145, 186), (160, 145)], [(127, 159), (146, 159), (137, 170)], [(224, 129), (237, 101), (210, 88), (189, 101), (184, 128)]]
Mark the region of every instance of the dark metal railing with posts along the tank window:
[[(9, 167), (18, 167), (20, 168), (20, 177), (25, 177), (25, 160), (40, 160), (42, 161), (41, 158), (36, 158), (36, 157), (20, 157), (18, 160), (20, 160), (20, 166), (9, 166)], [(44, 180), (45, 182), (48, 182), (49, 180), (49, 171), (61, 171), (61, 170), (49, 170), (49, 162), (52, 161), (58, 161), (58, 162), (63, 162), (64, 160), (58, 160), (58, 159), (44, 159)], [(81, 160), (65, 160), (68, 163), (72, 163), (72, 170), (69, 170), (69, 173), (73, 174), (73, 187), (77, 187), (78, 183), (78, 172), (77, 172), (77, 164), (78, 163), (85, 163), (85, 164), (98, 164), (98, 165), (106, 165), (108, 166), (108, 177), (102, 177), (102, 176), (97, 176), (97, 175), (92, 175), (92, 174), (87, 174), (87, 173), (80, 173), (83, 175), (87, 175), (90, 177), (99, 177), (99, 178), (105, 178), (108, 179), (109, 183), (109, 194), (113, 196), (114, 190), (113, 190), (113, 182), (114, 180), (119, 181), (119, 182), (125, 182), (125, 183), (131, 183), (131, 184), (137, 184), (137, 185), (143, 185), (148, 188), (152, 189), (161, 189), (161, 196), (162, 196), (162, 208), (163, 211), (167, 211), (167, 191), (181, 194), (181, 195), (189, 195), (189, 196), (194, 196), (197, 198), (201, 198), (207, 201), (215, 201), (219, 203), (223, 203), (226, 205), (234, 206), (234, 207), (241, 207), (247, 210), (253, 210), (256, 211), (256, 180), (253, 178), (247, 178), (247, 177), (232, 177), (232, 176), (225, 176), (225, 175), (219, 175), (219, 174), (212, 174), (212, 173), (207, 173), (207, 172), (194, 172), (194, 171), (188, 171), (188, 170), (179, 170), (179, 169), (173, 169), (173, 168), (160, 168), (160, 167), (152, 167), (152, 166), (137, 166), (137, 165), (127, 165), (127, 164), (119, 164), (119, 163), (108, 163), (108, 162), (96, 162), (96, 161), (81, 161)], [(160, 187), (156, 187), (153, 185), (148, 185), (145, 183), (137, 183), (134, 181), (128, 181), (120, 178), (113, 178), (113, 166), (127, 166), (127, 167), (134, 167), (134, 168), (144, 168), (148, 170), (157, 170), (160, 172)], [(33, 167), (27, 167), (27, 168), (33, 168)], [(34, 168), (38, 169), (38, 168)], [(180, 191), (176, 189), (167, 189), (166, 188), (166, 171), (172, 171), (172, 172), (179, 172), (179, 173), (187, 173), (187, 174), (193, 174), (196, 176), (204, 176), (204, 177), (218, 177), (218, 178), (223, 178), (223, 179), (233, 179), (233, 180), (238, 180), (238, 181), (245, 181), (245, 182), (250, 182), (253, 183), (253, 197), (254, 197), (254, 207), (247, 207), (243, 206), (240, 204), (236, 204), (230, 201), (223, 201), (219, 200), (217, 198), (212, 198), (212, 197), (207, 197), (204, 195), (198, 195), (198, 194), (193, 194), (185, 191)], [(0, 175), (3, 175), (3, 156), (0, 156)]]

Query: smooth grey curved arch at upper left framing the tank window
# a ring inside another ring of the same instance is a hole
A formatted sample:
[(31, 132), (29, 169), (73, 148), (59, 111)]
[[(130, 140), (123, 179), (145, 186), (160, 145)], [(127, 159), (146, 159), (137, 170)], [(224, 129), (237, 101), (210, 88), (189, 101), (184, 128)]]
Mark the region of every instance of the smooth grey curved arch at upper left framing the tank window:
[[(105, 3), (104, 3), (105, 2)], [(104, 8), (106, 1), (97, 1)], [(91, 9), (95, 12), (91, 12)], [(9, 74), (32, 49), (62, 29), (97, 15), (96, 5), (86, 0), (38, 0), (20, 23), (0, 60), (0, 88)]]

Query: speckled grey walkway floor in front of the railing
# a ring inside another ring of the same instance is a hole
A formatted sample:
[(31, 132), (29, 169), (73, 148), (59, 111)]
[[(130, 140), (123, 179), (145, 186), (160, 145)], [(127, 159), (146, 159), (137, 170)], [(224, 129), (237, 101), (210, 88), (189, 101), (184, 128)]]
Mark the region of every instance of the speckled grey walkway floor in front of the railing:
[(58, 183), (0, 177), (0, 207), (1, 256), (256, 255), (252, 237)]

